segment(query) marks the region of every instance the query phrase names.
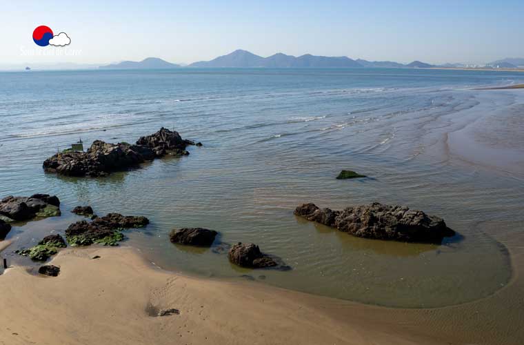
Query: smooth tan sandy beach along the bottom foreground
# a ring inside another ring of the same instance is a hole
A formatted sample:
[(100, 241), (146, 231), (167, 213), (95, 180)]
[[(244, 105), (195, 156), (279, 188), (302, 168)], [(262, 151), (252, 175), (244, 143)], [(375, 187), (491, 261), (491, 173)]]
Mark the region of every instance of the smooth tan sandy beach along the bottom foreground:
[[(524, 246), (510, 248), (509, 286), (434, 309), (177, 275), (145, 262), (132, 247), (68, 248), (51, 262), (61, 267), (58, 277), (22, 266), (0, 275), (0, 344), (522, 344), (523, 328), (497, 315), (505, 304), (514, 306), (506, 317), (524, 317), (517, 293), (524, 287)], [(153, 316), (169, 308), (179, 315)]]

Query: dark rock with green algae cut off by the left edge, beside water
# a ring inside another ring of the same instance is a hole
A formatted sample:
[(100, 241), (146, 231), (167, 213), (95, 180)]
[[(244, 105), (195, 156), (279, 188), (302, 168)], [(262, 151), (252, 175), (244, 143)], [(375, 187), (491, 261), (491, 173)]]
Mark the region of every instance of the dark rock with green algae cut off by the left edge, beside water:
[(48, 194), (35, 194), (30, 197), (9, 196), (0, 200), (0, 215), (17, 221), (59, 216), (60, 200)]

